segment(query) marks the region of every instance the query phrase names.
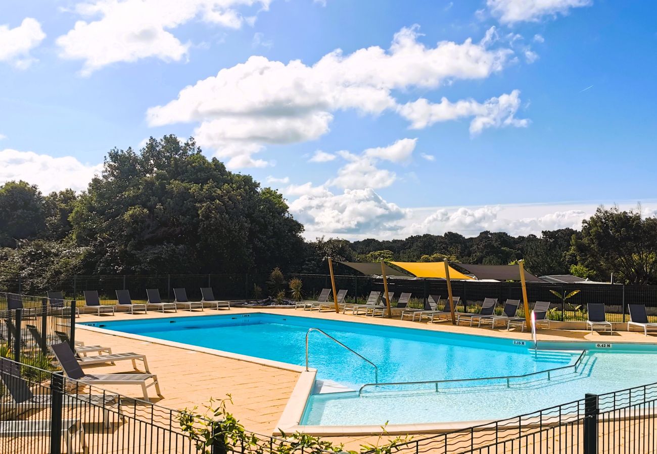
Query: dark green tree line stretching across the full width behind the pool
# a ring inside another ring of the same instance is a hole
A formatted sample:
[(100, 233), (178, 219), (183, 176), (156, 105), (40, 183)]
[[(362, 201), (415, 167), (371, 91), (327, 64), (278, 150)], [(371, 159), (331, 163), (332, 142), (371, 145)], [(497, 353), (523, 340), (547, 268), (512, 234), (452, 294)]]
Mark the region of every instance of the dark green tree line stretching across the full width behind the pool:
[[(57, 287), (74, 275), (325, 274), (327, 258), (510, 264), (524, 258), (537, 276), (575, 274), (657, 283), (657, 219), (600, 207), (581, 230), (541, 236), (455, 232), (406, 239), (324, 237), (304, 227), (283, 196), (206, 158), (193, 138), (150, 138), (135, 152), (113, 149), (87, 190), (43, 195), (23, 181), (0, 186), (0, 290)], [(349, 270), (339, 270), (342, 274)]]

